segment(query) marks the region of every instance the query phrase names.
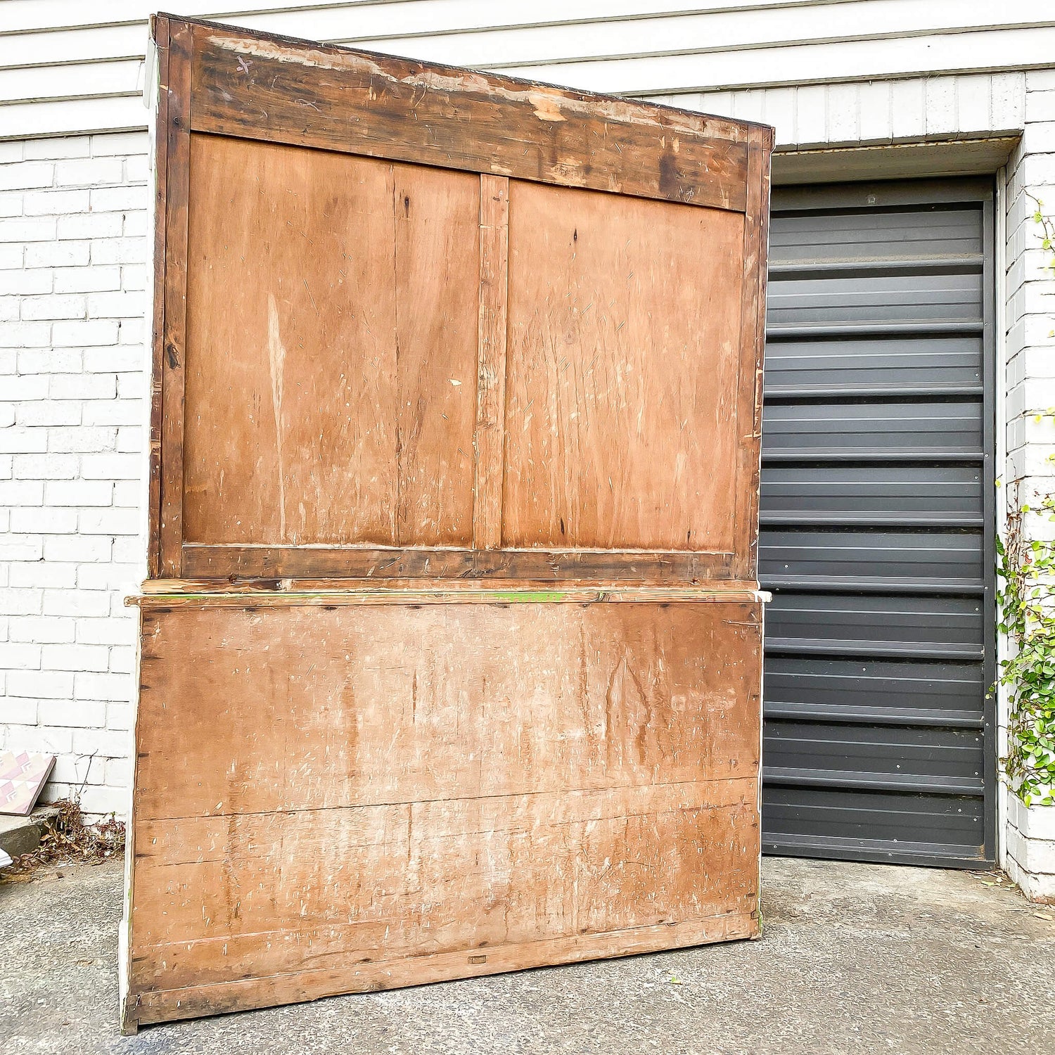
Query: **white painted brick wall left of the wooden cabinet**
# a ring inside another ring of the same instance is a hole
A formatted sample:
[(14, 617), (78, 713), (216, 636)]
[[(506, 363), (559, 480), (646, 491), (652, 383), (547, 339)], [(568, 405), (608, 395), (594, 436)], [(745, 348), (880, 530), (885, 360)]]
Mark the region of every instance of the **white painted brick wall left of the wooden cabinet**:
[(145, 575), (147, 135), (0, 143), (0, 744), (124, 814)]

